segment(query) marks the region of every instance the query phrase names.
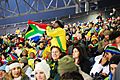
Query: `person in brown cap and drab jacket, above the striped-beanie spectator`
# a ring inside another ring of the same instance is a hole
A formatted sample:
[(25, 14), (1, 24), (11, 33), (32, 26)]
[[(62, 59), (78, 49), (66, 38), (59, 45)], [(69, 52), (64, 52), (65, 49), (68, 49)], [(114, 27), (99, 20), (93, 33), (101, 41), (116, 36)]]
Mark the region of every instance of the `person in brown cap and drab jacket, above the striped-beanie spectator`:
[(98, 50), (97, 52), (101, 54), (104, 51), (106, 45), (109, 44), (109, 35), (111, 34), (110, 30), (104, 31), (104, 39), (98, 43)]

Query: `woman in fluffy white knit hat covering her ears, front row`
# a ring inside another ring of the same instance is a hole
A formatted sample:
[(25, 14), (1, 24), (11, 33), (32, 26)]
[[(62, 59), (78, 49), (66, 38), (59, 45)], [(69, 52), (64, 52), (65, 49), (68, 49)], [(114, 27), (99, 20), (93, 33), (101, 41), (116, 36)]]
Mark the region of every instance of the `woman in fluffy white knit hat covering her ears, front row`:
[(50, 78), (50, 66), (45, 60), (35, 64), (35, 80), (48, 80)]

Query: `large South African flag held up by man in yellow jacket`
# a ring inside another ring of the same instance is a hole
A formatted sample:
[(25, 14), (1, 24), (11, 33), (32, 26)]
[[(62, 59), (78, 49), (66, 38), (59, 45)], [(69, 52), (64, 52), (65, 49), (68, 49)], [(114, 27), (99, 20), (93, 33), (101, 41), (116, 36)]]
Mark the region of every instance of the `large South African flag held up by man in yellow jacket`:
[(25, 38), (37, 42), (40, 39), (40, 37), (44, 34), (47, 24), (40, 24), (29, 20), (28, 25), (29, 27), (26, 31)]

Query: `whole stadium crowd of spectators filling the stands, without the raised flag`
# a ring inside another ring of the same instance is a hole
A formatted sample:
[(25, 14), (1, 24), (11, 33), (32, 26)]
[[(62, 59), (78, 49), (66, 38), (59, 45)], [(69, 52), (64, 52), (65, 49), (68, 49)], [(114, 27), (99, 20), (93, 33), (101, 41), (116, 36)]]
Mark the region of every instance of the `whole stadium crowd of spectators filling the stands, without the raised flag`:
[(95, 19), (54, 21), (38, 42), (20, 29), (0, 36), (0, 80), (120, 80), (120, 16)]

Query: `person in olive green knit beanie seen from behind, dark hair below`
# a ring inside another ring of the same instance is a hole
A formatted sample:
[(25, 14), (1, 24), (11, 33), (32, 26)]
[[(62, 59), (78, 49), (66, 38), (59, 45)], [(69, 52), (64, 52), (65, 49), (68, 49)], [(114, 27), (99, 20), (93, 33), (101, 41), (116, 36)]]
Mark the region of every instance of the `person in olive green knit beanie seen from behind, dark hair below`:
[(60, 76), (58, 80), (84, 80), (74, 63), (74, 59), (69, 55), (58, 61), (58, 73)]

